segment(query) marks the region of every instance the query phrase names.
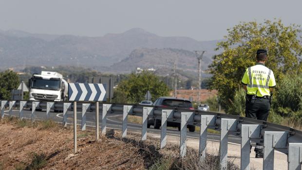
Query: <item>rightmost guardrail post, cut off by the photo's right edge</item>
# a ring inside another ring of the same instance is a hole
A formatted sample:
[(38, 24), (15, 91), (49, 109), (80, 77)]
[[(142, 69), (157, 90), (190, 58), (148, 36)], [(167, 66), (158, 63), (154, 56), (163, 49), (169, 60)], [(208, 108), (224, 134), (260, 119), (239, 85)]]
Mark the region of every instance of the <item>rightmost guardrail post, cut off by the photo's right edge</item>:
[(302, 143), (288, 144), (288, 170), (301, 170)]

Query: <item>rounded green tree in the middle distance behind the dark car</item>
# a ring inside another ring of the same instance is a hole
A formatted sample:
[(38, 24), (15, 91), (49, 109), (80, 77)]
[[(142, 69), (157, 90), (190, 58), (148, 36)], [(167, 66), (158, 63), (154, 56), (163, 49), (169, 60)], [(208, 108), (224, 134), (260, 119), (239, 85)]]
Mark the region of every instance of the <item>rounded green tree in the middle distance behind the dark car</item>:
[(151, 93), (151, 100), (154, 101), (160, 96), (167, 96), (169, 88), (159, 80), (158, 76), (153, 73), (144, 71), (140, 74), (130, 74), (127, 79), (118, 84), (118, 91), (122, 95), (127, 96), (128, 102), (138, 103), (144, 100), (147, 91)]

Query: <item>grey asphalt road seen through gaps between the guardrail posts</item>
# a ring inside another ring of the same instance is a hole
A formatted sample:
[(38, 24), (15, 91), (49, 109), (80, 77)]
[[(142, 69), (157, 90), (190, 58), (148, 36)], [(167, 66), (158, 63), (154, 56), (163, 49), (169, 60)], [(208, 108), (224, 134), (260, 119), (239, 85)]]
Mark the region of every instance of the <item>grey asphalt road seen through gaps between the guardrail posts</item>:
[[(23, 116), (25, 118), (31, 118), (31, 113), (32, 111), (30, 110), (23, 110)], [(5, 111), (5, 114), (8, 115), (8, 111)], [(19, 110), (14, 110), (13, 115), (19, 116)], [(50, 119), (56, 121), (56, 122), (62, 122), (63, 121), (63, 113), (50, 113)], [(72, 124), (73, 123), (73, 117), (74, 113), (73, 111), (68, 111), (67, 113), (67, 123)], [(81, 117), (82, 113), (77, 112), (77, 124), (81, 125)], [(122, 121), (121, 114), (116, 114), (116, 113), (108, 113), (107, 116), (107, 127), (108, 128), (113, 128), (113, 129), (122, 129)], [(38, 120), (45, 120), (46, 119), (46, 111), (43, 110), (42, 112), (35, 112), (35, 118)], [(99, 118), (99, 127), (101, 127), (101, 118)], [(95, 126), (95, 113), (92, 112), (87, 112), (86, 113), (86, 126)], [(128, 131), (134, 131), (134, 132), (141, 132), (141, 127), (142, 125), (140, 124), (133, 124), (133, 123), (128, 123)], [(157, 133), (160, 134), (160, 129), (153, 129), (152, 126), (147, 130), (147, 132), (152, 132), (152, 133)], [(175, 128), (170, 128), (168, 127), (167, 130), (168, 135), (180, 135), (180, 131), (178, 131)], [(199, 132), (189, 132), (187, 131), (187, 136), (190, 138), (198, 138), (199, 139)], [(208, 133), (208, 140), (214, 140), (214, 141), (219, 141), (220, 135), (219, 134), (213, 134), (213, 133)], [(233, 136), (233, 135), (228, 135), (228, 142), (229, 143), (235, 143), (235, 144), (240, 144), (241, 143), (241, 138), (238, 136)]]

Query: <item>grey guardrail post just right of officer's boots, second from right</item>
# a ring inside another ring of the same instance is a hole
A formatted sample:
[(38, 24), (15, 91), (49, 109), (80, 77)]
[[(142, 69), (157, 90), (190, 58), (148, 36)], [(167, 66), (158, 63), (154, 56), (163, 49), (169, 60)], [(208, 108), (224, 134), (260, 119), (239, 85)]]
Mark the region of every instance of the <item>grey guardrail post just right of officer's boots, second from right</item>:
[(274, 170), (274, 149), (286, 148), (287, 136), (288, 132), (264, 132), (264, 170)]

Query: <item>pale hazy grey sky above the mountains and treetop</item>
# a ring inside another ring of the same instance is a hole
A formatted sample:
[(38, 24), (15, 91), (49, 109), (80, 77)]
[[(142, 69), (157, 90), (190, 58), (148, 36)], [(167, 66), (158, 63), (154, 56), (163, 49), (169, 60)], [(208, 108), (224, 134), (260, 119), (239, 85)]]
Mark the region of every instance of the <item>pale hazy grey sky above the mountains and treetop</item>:
[(139, 27), (212, 40), (239, 21), (302, 24), (301, 8), (302, 0), (0, 0), (0, 29), (103, 36)]

